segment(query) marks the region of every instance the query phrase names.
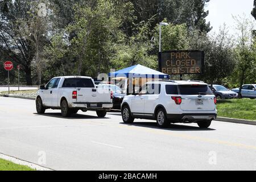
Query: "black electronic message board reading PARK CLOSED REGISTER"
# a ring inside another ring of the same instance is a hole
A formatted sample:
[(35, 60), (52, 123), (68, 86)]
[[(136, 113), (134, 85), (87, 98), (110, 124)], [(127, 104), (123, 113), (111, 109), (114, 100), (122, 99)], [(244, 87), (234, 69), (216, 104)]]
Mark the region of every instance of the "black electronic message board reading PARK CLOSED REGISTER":
[(168, 75), (204, 73), (204, 51), (175, 50), (159, 52), (159, 71)]

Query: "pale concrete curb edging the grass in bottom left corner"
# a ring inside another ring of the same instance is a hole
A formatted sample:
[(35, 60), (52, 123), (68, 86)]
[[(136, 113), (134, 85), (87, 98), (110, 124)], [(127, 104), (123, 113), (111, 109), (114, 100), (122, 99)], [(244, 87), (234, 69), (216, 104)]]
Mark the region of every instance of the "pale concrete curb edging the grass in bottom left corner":
[(20, 164), (20, 165), (23, 165), (23, 166), (28, 166), (28, 167), (30, 167), (32, 169), (36, 169), (38, 171), (54, 171), (51, 168), (46, 168), (46, 167), (40, 166), (38, 164), (31, 163), (31, 162), (28, 162), (26, 160), (21, 160), (21, 159), (15, 158), (13, 156), (5, 155), (5, 154), (2, 154), (2, 153), (0, 153), (0, 158), (1, 159), (5, 159), (5, 160), (9, 160), (10, 162), (13, 162), (15, 164)]

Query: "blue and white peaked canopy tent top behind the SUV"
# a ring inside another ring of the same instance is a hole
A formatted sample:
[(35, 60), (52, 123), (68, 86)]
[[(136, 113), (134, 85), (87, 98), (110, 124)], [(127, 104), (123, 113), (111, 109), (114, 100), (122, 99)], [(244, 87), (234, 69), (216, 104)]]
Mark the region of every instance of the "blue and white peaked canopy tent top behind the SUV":
[(121, 69), (116, 72), (109, 73), (109, 77), (126, 77), (126, 78), (164, 78), (168, 79), (169, 75), (164, 74), (154, 69), (144, 67), (143, 65), (137, 64), (129, 68)]

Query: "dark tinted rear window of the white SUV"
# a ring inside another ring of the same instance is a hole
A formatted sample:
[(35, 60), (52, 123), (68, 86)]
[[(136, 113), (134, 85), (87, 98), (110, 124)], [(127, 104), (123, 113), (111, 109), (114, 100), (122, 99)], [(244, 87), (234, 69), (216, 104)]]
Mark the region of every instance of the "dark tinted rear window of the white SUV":
[(178, 85), (181, 95), (213, 95), (208, 85)]

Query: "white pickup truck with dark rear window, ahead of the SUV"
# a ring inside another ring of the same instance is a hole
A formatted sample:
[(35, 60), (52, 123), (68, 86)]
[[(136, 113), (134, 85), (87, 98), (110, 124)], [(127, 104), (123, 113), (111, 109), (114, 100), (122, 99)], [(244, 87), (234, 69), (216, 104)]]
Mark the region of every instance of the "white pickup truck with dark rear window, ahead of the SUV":
[(112, 91), (96, 88), (91, 77), (54, 77), (36, 93), (36, 111), (43, 114), (46, 109), (60, 109), (63, 117), (69, 117), (79, 110), (94, 110), (98, 117), (105, 117), (113, 107), (112, 98)]

